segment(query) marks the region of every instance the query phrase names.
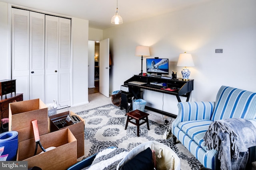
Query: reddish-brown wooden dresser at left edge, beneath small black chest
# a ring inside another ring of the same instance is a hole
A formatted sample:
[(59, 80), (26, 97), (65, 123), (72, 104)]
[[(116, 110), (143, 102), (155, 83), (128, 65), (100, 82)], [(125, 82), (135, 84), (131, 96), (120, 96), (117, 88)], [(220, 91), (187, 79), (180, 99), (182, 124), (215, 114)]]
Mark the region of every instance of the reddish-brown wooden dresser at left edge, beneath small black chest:
[(1, 119), (9, 117), (9, 103), (20, 102), (22, 100), (23, 100), (22, 93), (16, 94), (16, 96), (14, 94), (6, 94), (6, 96), (4, 96), (2, 100), (0, 100)]

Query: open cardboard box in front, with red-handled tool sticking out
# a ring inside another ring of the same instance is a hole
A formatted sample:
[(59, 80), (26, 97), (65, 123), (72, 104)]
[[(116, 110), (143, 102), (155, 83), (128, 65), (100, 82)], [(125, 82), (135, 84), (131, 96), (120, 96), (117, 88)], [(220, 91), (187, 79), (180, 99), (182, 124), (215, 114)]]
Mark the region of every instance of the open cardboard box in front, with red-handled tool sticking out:
[(39, 154), (42, 150), (38, 146), (34, 156), (35, 139), (28, 139), (19, 142), (17, 161), (28, 161), (28, 168), (38, 166), (43, 170), (65, 170), (76, 164), (76, 138), (68, 128), (40, 136), (40, 142), (44, 149), (56, 148)]

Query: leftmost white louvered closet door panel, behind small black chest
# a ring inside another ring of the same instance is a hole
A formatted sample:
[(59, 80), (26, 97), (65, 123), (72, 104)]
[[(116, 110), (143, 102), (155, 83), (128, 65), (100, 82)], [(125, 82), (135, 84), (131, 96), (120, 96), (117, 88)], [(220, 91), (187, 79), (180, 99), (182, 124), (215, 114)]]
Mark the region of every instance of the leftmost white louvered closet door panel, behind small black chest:
[(29, 11), (12, 8), (12, 79), (29, 100)]

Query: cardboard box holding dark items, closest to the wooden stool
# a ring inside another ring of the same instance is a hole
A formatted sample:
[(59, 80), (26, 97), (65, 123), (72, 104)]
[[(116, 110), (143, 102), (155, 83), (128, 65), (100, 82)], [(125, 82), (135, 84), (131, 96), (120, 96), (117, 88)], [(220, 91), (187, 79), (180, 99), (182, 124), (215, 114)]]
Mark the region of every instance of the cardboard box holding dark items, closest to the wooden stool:
[(69, 126), (63, 127), (63, 128), (59, 128), (52, 121), (52, 119), (54, 119), (54, 118), (65, 116), (65, 115), (68, 115), (69, 113), (70, 113), (70, 115), (76, 115), (72, 111), (66, 111), (66, 112), (63, 112), (63, 113), (59, 113), (59, 114), (56, 114), (56, 115), (49, 116), (50, 131), (54, 132), (54, 131), (58, 131), (60, 129), (69, 128), (70, 131), (73, 133), (73, 135), (77, 139), (77, 158), (80, 158), (81, 156), (84, 156), (84, 124), (85, 124), (84, 119), (82, 117), (80, 117), (79, 115), (76, 115), (81, 120), (81, 122), (80, 123), (75, 123), (73, 125), (69, 125)]

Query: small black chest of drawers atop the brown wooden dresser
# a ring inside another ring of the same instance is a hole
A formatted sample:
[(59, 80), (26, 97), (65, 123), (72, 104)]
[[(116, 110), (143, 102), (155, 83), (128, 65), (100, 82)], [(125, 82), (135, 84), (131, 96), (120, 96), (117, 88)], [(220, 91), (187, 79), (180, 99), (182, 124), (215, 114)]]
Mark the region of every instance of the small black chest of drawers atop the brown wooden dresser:
[(2, 97), (6, 94), (14, 92), (16, 95), (16, 80), (0, 80), (0, 96)]

